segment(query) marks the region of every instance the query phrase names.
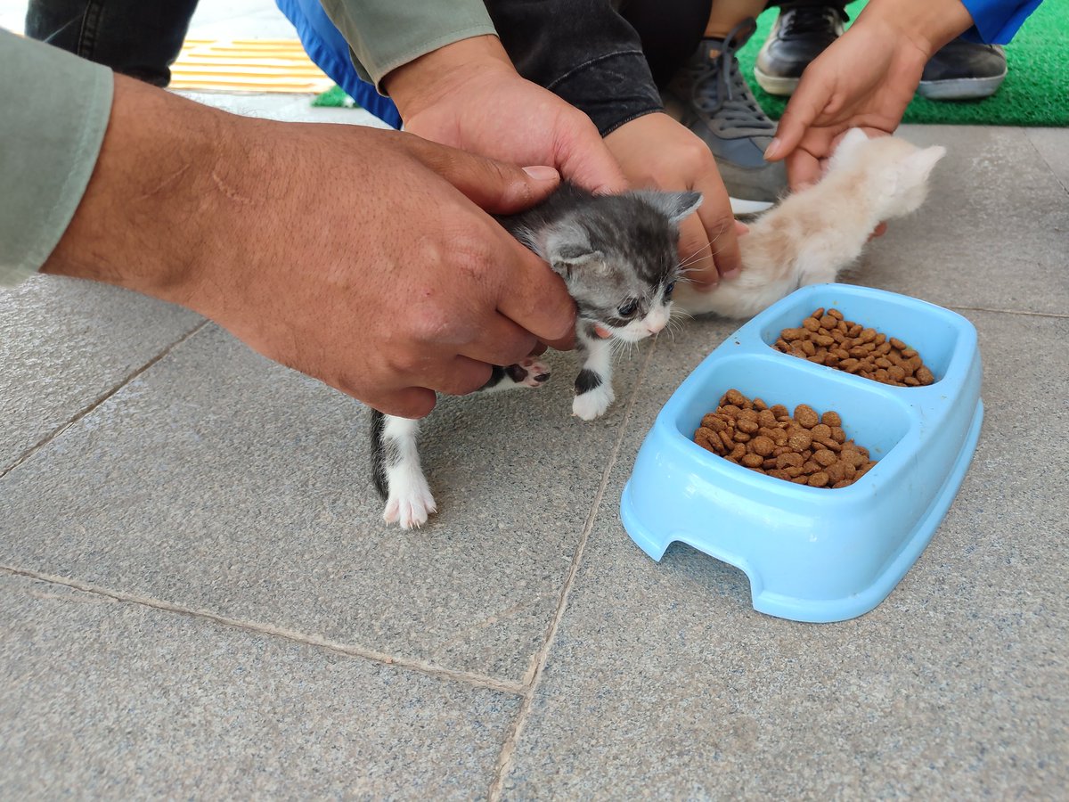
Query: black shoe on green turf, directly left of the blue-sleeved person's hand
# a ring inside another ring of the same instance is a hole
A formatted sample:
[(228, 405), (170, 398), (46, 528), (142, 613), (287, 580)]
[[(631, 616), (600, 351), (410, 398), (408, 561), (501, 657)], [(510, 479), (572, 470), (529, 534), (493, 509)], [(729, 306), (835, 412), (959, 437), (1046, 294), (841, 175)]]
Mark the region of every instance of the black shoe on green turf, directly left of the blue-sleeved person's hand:
[(842, 35), (849, 17), (842, 5), (812, 0), (785, 3), (761, 46), (754, 77), (770, 95), (794, 92), (802, 71)]

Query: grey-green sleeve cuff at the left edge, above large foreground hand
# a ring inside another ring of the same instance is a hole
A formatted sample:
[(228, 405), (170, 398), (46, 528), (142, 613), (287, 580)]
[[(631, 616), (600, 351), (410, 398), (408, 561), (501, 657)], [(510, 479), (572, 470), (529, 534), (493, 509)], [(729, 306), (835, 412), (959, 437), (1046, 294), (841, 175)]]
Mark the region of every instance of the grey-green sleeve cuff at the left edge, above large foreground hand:
[(110, 70), (0, 29), (0, 286), (35, 273), (71, 223), (111, 94)]

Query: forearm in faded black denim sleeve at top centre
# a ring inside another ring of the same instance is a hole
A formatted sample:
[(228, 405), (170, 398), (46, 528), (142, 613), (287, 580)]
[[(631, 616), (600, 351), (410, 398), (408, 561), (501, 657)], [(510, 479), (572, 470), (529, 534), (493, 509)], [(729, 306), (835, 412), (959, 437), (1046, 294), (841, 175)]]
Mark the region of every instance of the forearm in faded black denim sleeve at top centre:
[(639, 36), (608, 0), (486, 7), (520, 74), (586, 112), (602, 136), (662, 109)]

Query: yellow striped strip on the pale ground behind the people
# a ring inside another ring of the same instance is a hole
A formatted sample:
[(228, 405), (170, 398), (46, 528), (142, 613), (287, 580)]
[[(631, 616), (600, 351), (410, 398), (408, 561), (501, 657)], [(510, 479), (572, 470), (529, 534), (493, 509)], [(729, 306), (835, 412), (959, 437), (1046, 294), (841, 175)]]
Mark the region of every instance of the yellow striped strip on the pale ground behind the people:
[(334, 81), (297, 40), (186, 40), (171, 66), (173, 89), (319, 94)]

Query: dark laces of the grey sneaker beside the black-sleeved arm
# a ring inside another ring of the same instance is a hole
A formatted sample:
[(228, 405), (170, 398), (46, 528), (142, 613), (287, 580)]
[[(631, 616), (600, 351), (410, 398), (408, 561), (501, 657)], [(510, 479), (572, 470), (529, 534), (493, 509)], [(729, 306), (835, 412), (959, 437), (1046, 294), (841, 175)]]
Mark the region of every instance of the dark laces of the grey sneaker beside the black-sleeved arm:
[[(695, 79), (693, 97), (694, 104), (699, 109), (707, 114), (716, 113), (717, 119), (733, 123), (738, 128), (771, 132), (775, 129), (775, 123), (764, 115), (754, 95), (749, 93), (749, 87), (739, 70), (739, 61), (735, 58), (739, 48), (746, 44), (755, 30), (757, 30), (756, 20), (753, 17), (744, 19), (724, 37), (715, 67), (710, 62), (708, 65), (691, 66), (688, 72)], [(716, 74), (716, 83), (713, 87), (709, 86), (711, 72)]]

